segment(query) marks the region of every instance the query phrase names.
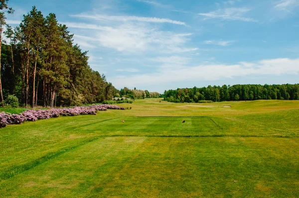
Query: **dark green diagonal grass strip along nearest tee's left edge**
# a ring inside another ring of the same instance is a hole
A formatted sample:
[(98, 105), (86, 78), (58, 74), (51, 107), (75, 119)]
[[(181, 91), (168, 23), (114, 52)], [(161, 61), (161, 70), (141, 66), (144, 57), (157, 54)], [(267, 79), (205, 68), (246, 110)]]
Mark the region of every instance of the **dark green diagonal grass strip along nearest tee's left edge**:
[(57, 156), (60, 156), (64, 153), (67, 153), (71, 150), (74, 150), (75, 148), (78, 148), (80, 146), (83, 146), (87, 143), (90, 143), (90, 142), (93, 142), (95, 140), (99, 139), (99, 137), (93, 137), (93, 138), (88, 138), (87, 140), (84, 140), (83, 142), (81, 142), (80, 144), (76, 145), (76, 146), (71, 146), (71, 147), (66, 147), (66, 148), (63, 148), (61, 150), (58, 150), (56, 152), (50, 152), (48, 153), (47, 155), (44, 155), (34, 161), (31, 161), (31, 162), (28, 162), (28, 163), (25, 163), (25, 164), (22, 164), (22, 165), (19, 165), (19, 166), (12, 166), (12, 167), (9, 167), (7, 169), (4, 169), (1, 173), (0, 173), (0, 181), (2, 180), (7, 180), (9, 178), (12, 178), (18, 174), (21, 174), (25, 171), (28, 171), (48, 160), (51, 160)]

